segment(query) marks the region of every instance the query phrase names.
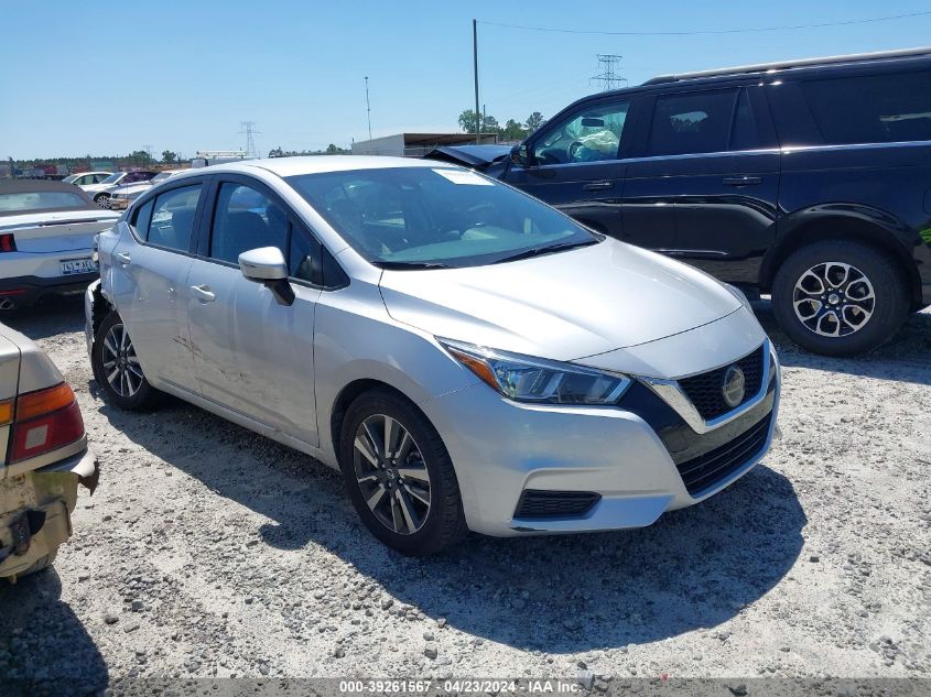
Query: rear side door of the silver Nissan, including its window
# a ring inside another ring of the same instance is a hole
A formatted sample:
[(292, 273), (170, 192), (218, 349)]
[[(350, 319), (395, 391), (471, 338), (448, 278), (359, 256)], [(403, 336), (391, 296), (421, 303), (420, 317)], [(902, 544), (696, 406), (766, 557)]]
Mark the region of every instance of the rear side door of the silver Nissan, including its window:
[(111, 287), (142, 371), (158, 386), (192, 391), (194, 359), (187, 328), (187, 274), (206, 177), (163, 189), (133, 210), (113, 249)]

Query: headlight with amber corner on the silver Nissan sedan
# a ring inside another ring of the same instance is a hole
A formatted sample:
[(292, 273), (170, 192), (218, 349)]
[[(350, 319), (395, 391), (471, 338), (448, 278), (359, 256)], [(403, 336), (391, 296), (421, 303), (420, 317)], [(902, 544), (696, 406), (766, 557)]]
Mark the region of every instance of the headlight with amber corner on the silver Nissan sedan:
[(630, 378), (574, 363), (531, 358), (437, 339), (451, 356), (486, 384), (517, 402), (538, 404), (615, 404)]

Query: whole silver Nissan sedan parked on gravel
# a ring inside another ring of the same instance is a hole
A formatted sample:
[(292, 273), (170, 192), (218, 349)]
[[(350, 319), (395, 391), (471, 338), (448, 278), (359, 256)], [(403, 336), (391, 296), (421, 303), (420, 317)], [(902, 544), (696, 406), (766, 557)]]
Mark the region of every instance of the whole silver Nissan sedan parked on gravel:
[(195, 170), (98, 253), (87, 344), (113, 404), (166, 392), (339, 468), (405, 554), (649, 525), (776, 429), (776, 353), (739, 291), (467, 170)]

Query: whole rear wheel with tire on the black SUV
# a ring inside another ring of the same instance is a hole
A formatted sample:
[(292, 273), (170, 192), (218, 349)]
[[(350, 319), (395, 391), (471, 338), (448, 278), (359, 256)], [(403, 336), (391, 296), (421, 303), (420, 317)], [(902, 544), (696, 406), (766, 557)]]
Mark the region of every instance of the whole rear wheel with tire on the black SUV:
[(826, 240), (789, 257), (772, 283), (772, 311), (802, 348), (853, 356), (890, 339), (908, 316), (896, 262), (862, 242)]

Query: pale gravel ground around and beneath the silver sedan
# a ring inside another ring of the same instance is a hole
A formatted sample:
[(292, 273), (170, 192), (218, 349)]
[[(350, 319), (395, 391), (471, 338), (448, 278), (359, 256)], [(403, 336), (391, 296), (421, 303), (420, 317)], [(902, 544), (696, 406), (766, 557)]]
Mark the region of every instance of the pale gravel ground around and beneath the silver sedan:
[(931, 312), (857, 360), (759, 315), (784, 367), (760, 467), (648, 529), (430, 559), (378, 544), (306, 456), (183, 403), (108, 406), (78, 303), (7, 316), (102, 475), (54, 570), (0, 588), (0, 675), (931, 677)]

